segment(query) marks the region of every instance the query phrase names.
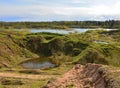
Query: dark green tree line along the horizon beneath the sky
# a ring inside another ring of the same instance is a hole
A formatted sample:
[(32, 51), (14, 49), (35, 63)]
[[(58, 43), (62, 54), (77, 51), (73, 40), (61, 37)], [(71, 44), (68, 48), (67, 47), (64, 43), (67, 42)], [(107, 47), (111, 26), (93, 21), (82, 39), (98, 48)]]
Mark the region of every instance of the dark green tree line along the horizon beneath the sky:
[(23, 28), (120, 28), (120, 21), (52, 21), (52, 22), (0, 22), (0, 28), (23, 29)]

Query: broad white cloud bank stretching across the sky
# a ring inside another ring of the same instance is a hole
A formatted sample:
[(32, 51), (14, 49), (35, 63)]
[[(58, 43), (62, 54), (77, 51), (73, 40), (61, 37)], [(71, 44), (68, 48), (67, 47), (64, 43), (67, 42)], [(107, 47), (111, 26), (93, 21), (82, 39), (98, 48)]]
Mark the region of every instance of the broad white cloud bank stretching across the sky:
[[(25, 0), (29, 1), (29, 0)], [(30, 0), (38, 1), (38, 0)], [(94, 0), (92, 0), (94, 1)], [(87, 3), (88, 0), (71, 0), (73, 3)], [(120, 19), (120, 1), (116, 1), (111, 5), (103, 3), (97, 3), (90, 6), (42, 6), (42, 5), (2, 5), (0, 4), (0, 16), (34, 16), (36, 18), (42, 16), (64, 16), (64, 17), (86, 17), (92, 20), (104, 20), (106, 19)]]

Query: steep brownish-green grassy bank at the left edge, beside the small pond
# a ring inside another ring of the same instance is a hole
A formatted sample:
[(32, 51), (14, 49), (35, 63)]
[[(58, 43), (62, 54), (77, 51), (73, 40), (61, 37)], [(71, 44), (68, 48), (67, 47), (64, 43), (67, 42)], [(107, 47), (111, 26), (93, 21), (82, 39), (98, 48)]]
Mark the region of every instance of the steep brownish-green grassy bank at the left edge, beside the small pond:
[(23, 37), (19, 32), (0, 31), (0, 67), (17, 66), (20, 61), (35, 56), (18, 44)]

